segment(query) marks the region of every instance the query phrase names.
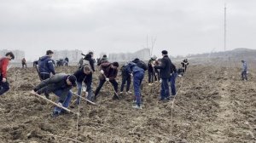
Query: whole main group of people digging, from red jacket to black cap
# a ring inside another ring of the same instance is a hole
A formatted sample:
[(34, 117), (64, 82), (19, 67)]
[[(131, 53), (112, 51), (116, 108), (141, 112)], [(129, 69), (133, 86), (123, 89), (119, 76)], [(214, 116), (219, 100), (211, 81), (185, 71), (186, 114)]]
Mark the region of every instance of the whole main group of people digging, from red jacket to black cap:
[[(134, 88), (134, 106), (133, 108), (142, 109), (142, 94), (141, 84), (148, 70), (148, 83), (153, 83), (153, 77), (161, 84), (160, 100), (172, 100), (172, 97), (176, 94), (175, 79), (177, 77), (176, 66), (168, 57), (166, 50), (162, 51), (162, 59), (157, 60), (156, 57), (149, 60), (148, 65), (142, 60), (136, 58), (130, 62), (127, 62), (121, 67), (122, 83), (119, 90), (119, 83), (116, 81), (118, 76), (119, 63), (109, 62), (107, 55), (103, 55), (102, 59), (98, 61), (99, 66), (99, 83), (95, 92), (92, 91), (92, 75), (95, 72), (95, 60), (93, 60), (93, 53), (83, 54), (83, 64), (79, 66), (79, 69), (73, 74), (55, 73), (55, 66), (53, 64), (52, 56), (54, 52), (52, 50), (46, 51), (46, 54), (38, 60), (38, 76), (41, 80), (33, 90), (32, 94), (44, 94), (49, 99), (49, 93), (54, 93), (59, 97), (58, 105), (68, 107), (73, 93), (71, 89), (78, 86), (78, 98), (75, 104), (79, 105), (82, 98), (82, 90), (84, 89), (85, 97), (87, 100), (96, 101), (100, 90), (104, 83), (111, 83), (113, 86), (113, 100), (119, 100), (119, 94), (124, 93), (126, 84), (126, 94), (131, 94), (130, 84), (131, 78), (133, 78)], [(0, 71), (1, 71), (1, 90), (0, 94), (3, 94), (9, 90), (9, 83), (6, 81), (6, 68), (9, 60), (15, 59), (15, 55), (11, 52), (7, 53), (2, 58)], [(157, 75), (158, 74), (158, 75)], [(83, 88), (84, 83), (84, 88)], [(172, 95), (169, 92), (169, 83), (171, 83)], [(86, 88), (85, 88), (86, 87)], [(119, 93), (119, 94), (118, 94)], [(65, 113), (61, 107), (56, 106), (53, 111), (53, 116), (58, 116), (61, 113)]]

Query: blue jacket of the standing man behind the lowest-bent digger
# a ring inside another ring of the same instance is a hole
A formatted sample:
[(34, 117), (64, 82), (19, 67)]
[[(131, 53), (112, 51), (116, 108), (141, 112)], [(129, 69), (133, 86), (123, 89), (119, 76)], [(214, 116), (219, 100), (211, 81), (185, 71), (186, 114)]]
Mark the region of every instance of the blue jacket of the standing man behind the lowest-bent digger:
[(53, 62), (48, 55), (44, 55), (38, 60), (39, 72), (50, 74), (52, 72), (55, 75), (55, 68)]

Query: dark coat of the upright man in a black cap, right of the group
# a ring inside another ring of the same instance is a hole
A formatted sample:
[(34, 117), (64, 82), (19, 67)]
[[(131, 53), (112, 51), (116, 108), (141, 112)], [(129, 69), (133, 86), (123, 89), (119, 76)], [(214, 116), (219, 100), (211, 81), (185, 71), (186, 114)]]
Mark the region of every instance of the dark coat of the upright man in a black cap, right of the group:
[(165, 55), (161, 59), (161, 64), (160, 66), (154, 66), (156, 69), (160, 69), (160, 78), (169, 78), (171, 75), (171, 66), (172, 66), (172, 61), (168, 57), (168, 55)]

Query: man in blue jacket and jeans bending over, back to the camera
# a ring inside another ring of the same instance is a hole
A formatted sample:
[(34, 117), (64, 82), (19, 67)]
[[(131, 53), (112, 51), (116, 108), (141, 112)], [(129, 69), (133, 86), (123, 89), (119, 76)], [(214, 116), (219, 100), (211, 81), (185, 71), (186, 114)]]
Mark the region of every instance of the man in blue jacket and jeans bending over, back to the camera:
[(130, 62), (127, 66), (124, 67), (125, 70), (133, 76), (133, 89), (134, 89), (134, 94), (135, 94), (135, 99), (136, 99), (136, 106), (132, 106), (133, 108), (136, 109), (142, 109), (141, 103), (141, 91), (140, 91), (140, 86), (143, 82), (144, 78), (144, 70), (143, 68), (137, 66), (134, 62)]

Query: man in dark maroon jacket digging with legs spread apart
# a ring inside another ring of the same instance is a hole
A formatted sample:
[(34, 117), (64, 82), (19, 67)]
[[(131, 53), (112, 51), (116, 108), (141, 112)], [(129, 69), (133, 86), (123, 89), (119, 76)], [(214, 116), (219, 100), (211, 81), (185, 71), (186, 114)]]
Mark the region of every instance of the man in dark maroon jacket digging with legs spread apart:
[(113, 63), (104, 62), (101, 64), (101, 66), (100, 66), (101, 74), (99, 76), (100, 83), (95, 91), (95, 100), (96, 100), (97, 94), (99, 94), (100, 90), (102, 89), (103, 84), (106, 81), (113, 85), (113, 89), (115, 92), (113, 94), (112, 99), (119, 100), (119, 96), (117, 94), (119, 83), (117, 83), (115, 80), (115, 78), (117, 77), (117, 74), (118, 74), (118, 70), (117, 70), (118, 67), (119, 67), (118, 62), (113, 62)]

